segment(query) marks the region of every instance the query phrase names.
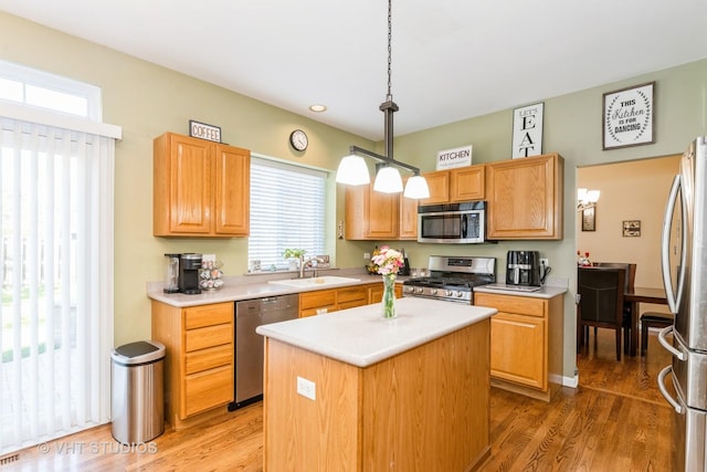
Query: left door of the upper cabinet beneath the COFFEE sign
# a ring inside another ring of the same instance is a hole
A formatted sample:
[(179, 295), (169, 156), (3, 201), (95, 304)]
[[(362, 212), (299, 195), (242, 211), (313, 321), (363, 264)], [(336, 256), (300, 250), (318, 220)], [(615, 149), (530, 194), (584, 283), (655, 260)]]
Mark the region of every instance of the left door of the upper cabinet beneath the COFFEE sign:
[(209, 234), (211, 144), (171, 133), (160, 138), (163, 143), (155, 146), (155, 234)]

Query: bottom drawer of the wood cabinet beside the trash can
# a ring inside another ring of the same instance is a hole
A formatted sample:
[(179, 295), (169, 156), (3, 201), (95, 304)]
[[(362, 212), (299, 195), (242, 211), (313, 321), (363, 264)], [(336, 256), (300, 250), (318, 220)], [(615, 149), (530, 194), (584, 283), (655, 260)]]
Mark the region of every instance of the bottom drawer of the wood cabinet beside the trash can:
[(182, 418), (233, 401), (233, 367), (223, 366), (187, 376)]

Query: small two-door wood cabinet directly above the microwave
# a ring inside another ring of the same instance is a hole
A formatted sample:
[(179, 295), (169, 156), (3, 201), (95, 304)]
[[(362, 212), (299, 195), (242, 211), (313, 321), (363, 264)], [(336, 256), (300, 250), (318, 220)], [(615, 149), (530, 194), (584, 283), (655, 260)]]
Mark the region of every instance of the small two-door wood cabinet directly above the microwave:
[(485, 196), (485, 165), (457, 167), (451, 170), (425, 172), (430, 198), (420, 204), (443, 204), (483, 200)]

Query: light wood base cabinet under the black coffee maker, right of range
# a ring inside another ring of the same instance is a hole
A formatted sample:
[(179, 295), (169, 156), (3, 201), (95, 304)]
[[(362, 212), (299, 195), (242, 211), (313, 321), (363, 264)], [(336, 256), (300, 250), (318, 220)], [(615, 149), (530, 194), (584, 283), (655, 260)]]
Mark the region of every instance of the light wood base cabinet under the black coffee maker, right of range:
[(490, 322), (492, 385), (549, 401), (561, 387), (562, 296), (474, 292), (474, 305), (498, 310)]

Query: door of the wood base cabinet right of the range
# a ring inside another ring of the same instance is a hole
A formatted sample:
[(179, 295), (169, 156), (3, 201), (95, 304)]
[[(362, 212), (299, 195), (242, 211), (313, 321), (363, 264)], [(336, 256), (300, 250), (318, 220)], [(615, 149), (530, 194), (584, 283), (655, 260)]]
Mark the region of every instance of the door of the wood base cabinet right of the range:
[(490, 318), (490, 375), (547, 389), (545, 319), (498, 312)]

